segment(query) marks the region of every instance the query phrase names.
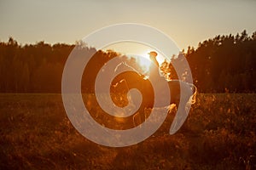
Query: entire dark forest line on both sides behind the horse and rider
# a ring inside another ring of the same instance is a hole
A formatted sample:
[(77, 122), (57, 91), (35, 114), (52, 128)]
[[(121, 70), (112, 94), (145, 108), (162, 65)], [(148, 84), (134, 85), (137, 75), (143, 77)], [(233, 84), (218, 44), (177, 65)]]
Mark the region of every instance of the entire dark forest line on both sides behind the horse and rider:
[[(82, 79), (83, 89), (93, 88), (90, 77), (94, 77), (109, 59), (120, 54), (110, 50), (96, 51), (79, 43), (21, 45), (12, 37), (8, 42), (0, 42), (0, 93), (61, 93), (62, 71), (76, 45), (82, 47), (80, 50), (84, 50), (84, 54), (94, 54), (91, 65), (84, 68)], [(201, 93), (255, 93), (256, 31), (251, 37), (247, 31), (236, 36), (216, 36), (200, 42), (197, 48), (183, 50), (183, 54)], [(136, 59), (125, 59), (129, 65), (139, 69)], [(160, 65), (168, 79), (177, 78), (172, 67), (175, 59)]]

